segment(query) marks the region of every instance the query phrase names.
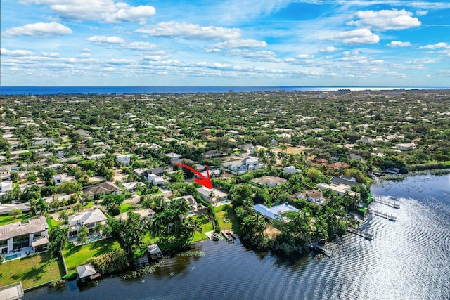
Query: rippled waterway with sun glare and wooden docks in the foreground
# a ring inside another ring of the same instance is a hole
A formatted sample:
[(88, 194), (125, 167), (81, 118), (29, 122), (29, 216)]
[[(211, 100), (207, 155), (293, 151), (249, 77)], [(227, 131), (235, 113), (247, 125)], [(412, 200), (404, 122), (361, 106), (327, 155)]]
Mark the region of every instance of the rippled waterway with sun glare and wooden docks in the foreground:
[[(25, 299), (450, 299), (450, 175), (416, 176), (372, 188), (399, 201), (397, 222), (370, 216), (371, 241), (346, 235), (326, 244), (332, 257), (283, 259), (240, 242), (195, 245), (200, 258), (167, 258), (167, 266), (136, 280), (106, 277), (79, 291), (44, 287)], [(172, 275), (171, 275), (172, 274)]]

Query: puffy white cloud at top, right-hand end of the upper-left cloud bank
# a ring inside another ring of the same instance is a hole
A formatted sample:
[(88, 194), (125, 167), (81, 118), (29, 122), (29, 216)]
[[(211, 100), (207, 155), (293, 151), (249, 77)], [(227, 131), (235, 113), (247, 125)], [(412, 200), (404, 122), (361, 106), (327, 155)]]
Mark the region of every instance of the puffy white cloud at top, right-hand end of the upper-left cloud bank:
[(130, 6), (126, 3), (117, 3), (118, 11), (105, 18), (105, 22), (141, 22), (144, 23), (150, 16), (155, 15), (155, 8), (149, 5)]

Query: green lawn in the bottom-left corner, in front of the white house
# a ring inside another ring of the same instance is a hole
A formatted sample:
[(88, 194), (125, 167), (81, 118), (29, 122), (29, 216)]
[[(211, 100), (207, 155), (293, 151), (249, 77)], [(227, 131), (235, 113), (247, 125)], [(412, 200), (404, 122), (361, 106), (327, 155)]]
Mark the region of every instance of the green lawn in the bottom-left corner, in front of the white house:
[(0, 266), (0, 286), (22, 281), (24, 289), (56, 280), (65, 275), (63, 261), (50, 260), (50, 252), (36, 257), (6, 261)]

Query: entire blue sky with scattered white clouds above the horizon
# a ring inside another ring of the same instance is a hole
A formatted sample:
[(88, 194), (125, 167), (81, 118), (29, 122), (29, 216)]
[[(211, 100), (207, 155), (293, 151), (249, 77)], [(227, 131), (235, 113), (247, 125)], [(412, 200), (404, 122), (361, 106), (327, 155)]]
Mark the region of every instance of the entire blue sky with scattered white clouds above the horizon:
[(1, 0), (4, 86), (450, 86), (450, 1)]

